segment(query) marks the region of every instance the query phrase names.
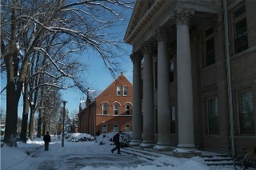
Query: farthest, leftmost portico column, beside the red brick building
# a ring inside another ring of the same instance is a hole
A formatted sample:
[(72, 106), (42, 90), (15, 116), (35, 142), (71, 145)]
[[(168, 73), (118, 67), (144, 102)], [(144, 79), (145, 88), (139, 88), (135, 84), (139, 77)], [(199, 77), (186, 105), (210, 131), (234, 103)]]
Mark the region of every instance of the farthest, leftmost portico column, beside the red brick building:
[(131, 54), (130, 59), (133, 62), (133, 140), (130, 147), (138, 146), (142, 143), (142, 76), (141, 62), (142, 57), (138, 54)]

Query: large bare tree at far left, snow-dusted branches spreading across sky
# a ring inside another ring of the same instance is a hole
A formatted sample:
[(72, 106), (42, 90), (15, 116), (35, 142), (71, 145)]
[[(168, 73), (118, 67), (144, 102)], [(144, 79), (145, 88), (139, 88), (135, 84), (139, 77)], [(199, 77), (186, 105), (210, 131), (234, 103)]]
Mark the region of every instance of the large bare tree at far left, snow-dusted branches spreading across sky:
[(65, 63), (54, 61), (52, 53), (47, 53), (43, 43), (46, 38), (58, 35), (58, 43), (66, 44), (68, 54), (95, 50), (114, 75), (120, 71), (115, 58), (124, 51), (113, 28), (122, 20), (121, 11), (130, 9), (130, 5), (133, 5), (130, 0), (2, 1), (1, 58), (7, 81), (4, 139), (7, 145), (17, 146), (18, 101), (33, 53), (43, 54), (58, 70), (58, 75), (49, 74), (51, 77), (70, 78), (84, 90), (77, 77), (66, 73)]

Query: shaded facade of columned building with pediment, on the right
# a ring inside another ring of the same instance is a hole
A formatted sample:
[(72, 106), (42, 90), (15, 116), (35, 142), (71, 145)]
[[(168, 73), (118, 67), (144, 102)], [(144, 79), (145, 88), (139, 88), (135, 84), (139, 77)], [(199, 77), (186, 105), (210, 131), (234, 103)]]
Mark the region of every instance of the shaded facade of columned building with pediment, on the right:
[[(256, 1), (141, 0), (133, 45), (133, 140), (235, 156), (256, 144)], [(143, 134), (143, 135), (142, 135)]]

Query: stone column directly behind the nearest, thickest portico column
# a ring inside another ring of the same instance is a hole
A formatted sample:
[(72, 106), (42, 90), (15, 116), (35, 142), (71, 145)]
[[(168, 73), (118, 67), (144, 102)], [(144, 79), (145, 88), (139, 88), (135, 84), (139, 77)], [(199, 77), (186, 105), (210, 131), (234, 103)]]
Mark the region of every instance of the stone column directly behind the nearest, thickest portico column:
[(170, 64), (167, 31), (158, 28), (158, 143), (154, 148), (170, 148)]

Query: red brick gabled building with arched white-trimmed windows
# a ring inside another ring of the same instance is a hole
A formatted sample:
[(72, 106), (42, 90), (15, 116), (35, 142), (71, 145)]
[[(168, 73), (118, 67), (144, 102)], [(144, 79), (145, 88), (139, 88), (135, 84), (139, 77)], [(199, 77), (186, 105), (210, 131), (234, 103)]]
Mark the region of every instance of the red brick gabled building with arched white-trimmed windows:
[(103, 91), (88, 90), (86, 107), (78, 113), (78, 132), (130, 132), (132, 98), (133, 85), (123, 73)]

